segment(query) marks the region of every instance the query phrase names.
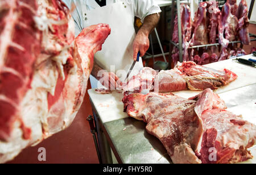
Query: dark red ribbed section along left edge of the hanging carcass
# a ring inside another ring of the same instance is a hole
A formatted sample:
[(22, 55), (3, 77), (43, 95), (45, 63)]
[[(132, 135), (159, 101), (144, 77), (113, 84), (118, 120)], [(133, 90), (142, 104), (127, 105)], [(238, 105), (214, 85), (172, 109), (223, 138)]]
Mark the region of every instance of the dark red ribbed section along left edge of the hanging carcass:
[[(16, 115), (17, 105), (30, 87), (34, 62), (40, 54), (41, 34), (32, 19), (37, 5), (31, 1), (27, 6), (26, 1), (1, 1), (0, 140), (9, 138), (15, 120), (22, 122)], [(22, 129), (23, 137), (30, 138), (31, 131)]]

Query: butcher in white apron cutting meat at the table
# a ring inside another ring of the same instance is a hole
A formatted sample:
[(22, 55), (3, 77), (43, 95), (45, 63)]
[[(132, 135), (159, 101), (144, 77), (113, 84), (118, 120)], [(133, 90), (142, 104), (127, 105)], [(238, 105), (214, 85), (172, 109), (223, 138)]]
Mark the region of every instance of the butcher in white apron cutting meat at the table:
[[(76, 36), (83, 28), (93, 24), (109, 24), (112, 34), (102, 46), (102, 51), (94, 55), (90, 83), (92, 88), (116, 89), (125, 81), (138, 53), (142, 57), (149, 48), (148, 36), (159, 22), (160, 7), (154, 0), (63, 1), (72, 11)], [(140, 18), (143, 23), (137, 34), (134, 16)], [(141, 57), (129, 77), (138, 74), (143, 68)]]

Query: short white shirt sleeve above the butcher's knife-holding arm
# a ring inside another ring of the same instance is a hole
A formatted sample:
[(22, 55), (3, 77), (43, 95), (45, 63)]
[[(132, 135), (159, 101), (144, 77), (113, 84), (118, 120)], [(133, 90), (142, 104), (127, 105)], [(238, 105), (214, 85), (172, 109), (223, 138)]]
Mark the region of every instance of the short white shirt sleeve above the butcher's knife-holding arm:
[(134, 0), (134, 15), (141, 18), (142, 23), (146, 16), (159, 12), (161, 9), (154, 0)]

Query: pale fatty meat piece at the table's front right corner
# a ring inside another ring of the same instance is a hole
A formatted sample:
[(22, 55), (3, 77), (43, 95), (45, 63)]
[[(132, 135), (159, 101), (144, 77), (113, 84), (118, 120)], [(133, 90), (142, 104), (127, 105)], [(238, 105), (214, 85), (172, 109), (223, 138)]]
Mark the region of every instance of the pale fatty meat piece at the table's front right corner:
[[(202, 163), (238, 163), (251, 159), (247, 148), (256, 140), (256, 126), (226, 111), (225, 102), (207, 89), (189, 99), (197, 100), (195, 111), (204, 128), (196, 155)], [(210, 153), (216, 155), (210, 160)]]

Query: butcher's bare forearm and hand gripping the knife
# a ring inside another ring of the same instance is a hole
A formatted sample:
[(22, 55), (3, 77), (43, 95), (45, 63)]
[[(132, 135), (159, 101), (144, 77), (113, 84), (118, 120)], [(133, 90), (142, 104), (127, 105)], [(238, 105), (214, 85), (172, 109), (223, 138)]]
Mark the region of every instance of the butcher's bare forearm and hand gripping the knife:
[(144, 18), (144, 23), (139, 29), (134, 42), (133, 42), (133, 59), (137, 60), (138, 52), (141, 52), (141, 56), (144, 56), (150, 46), (148, 36), (154, 30), (160, 19), (159, 14), (151, 14)]

